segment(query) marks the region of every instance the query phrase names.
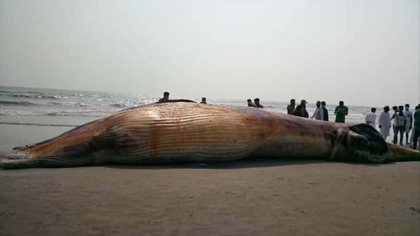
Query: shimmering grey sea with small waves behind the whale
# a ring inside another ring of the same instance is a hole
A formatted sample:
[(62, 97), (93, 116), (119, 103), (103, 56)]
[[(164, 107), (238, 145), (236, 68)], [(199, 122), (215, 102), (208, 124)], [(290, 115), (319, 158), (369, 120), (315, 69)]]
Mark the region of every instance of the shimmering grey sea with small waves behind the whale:
[[(38, 116), (46, 120), (52, 116), (100, 118), (125, 108), (153, 103), (158, 99), (141, 94), (0, 86), (0, 115), (9, 117), (8, 120), (11, 116)], [(185, 99), (201, 101), (201, 98)], [(211, 104), (246, 106), (246, 99), (240, 101), (207, 98), (207, 101)], [(262, 100), (261, 103), (264, 110), (287, 113), (286, 107), (289, 102)], [(327, 104), (330, 121), (335, 118), (335, 106), (336, 104)], [(349, 115), (346, 121), (349, 122), (364, 122), (366, 114), (370, 111), (370, 107), (366, 106), (348, 107)], [(311, 116), (315, 111), (315, 104), (308, 103), (307, 110)]]

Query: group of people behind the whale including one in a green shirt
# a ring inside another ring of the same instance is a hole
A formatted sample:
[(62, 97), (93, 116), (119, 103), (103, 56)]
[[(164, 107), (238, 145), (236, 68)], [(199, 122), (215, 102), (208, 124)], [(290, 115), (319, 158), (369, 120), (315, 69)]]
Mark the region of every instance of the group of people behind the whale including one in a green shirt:
[[(306, 100), (302, 99), (300, 104), (296, 106), (296, 100), (291, 99), (290, 104), (287, 105), (287, 114), (297, 117), (309, 118), (309, 114), (306, 111)], [(328, 109), (325, 107), (327, 103), (325, 101), (316, 101), (316, 109), (311, 119), (329, 121)], [(296, 106), (296, 108), (295, 108)], [(346, 116), (349, 114), (349, 108), (344, 105), (344, 101), (340, 101), (338, 106), (335, 107), (334, 115), (335, 122), (345, 123)]]

